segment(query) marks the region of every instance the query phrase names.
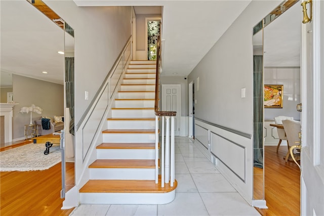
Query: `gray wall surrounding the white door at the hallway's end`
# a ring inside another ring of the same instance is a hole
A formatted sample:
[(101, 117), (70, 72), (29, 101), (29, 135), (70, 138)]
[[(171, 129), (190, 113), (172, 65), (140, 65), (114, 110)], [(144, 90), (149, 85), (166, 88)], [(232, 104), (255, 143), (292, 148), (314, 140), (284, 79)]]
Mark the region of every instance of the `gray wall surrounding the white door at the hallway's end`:
[[(181, 116), (188, 115), (188, 79), (183, 76), (160, 76), (160, 94), (162, 84), (181, 84)], [(160, 98), (161, 95), (160, 95)], [(161, 105), (161, 104), (160, 104)]]

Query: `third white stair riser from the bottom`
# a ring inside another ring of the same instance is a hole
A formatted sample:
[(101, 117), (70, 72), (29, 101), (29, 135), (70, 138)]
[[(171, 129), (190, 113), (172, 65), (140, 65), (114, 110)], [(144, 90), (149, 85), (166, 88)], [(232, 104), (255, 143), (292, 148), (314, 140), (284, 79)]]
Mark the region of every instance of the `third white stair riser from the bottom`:
[(155, 159), (155, 149), (97, 149), (97, 159)]

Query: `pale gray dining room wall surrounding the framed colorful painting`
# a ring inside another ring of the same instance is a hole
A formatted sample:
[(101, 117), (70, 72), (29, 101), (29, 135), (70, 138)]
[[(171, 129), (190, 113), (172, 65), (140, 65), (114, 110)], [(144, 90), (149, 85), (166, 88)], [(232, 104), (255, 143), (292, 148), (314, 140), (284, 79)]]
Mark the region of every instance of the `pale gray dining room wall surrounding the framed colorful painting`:
[(300, 68), (264, 68), (264, 84), (284, 85), (282, 108), (265, 108), (264, 119), (285, 115), (300, 120), (300, 112), (296, 110), (300, 103)]

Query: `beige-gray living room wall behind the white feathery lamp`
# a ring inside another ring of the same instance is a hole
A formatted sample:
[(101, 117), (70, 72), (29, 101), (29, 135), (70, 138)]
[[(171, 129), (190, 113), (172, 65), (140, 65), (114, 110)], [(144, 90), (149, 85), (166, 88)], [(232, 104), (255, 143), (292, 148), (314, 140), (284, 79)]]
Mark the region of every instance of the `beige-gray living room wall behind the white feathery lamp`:
[(32, 113), (32, 119), (64, 114), (64, 87), (61, 84), (46, 82), (13, 74), (14, 101), (19, 103), (13, 109), (13, 140), (24, 137), (24, 125), (29, 124), (30, 114), (20, 113), (22, 107), (31, 104), (41, 107), (42, 114)]

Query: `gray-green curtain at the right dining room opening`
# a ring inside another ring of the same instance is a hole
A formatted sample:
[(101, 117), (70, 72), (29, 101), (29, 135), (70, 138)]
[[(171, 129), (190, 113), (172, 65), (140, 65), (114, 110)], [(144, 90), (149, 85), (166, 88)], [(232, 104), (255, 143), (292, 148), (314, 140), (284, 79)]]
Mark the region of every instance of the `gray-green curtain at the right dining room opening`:
[(253, 149), (254, 166), (263, 167), (263, 56), (253, 56)]

